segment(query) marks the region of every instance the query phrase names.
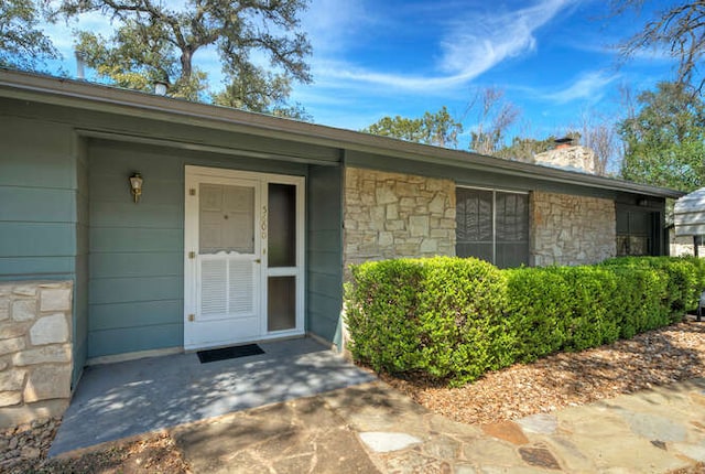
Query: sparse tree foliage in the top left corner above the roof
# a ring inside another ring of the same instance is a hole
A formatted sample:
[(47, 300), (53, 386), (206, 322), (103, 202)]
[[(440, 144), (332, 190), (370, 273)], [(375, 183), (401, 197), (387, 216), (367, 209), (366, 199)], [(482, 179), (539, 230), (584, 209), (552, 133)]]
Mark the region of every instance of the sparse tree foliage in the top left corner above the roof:
[(0, 66), (36, 69), (41, 62), (59, 57), (36, 26), (41, 11), (32, 0), (0, 1)]

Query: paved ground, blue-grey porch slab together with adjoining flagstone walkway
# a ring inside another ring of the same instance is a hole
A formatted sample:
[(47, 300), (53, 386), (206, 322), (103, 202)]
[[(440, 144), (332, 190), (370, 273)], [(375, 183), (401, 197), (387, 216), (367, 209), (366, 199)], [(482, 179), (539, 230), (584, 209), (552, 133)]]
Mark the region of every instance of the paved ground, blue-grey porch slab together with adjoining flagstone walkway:
[(694, 473), (705, 462), (703, 378), (479, 427), (312, 340), (261, 346), (203, 365), (181, 354), (89, 368), (50, 455), (164, 430), (195, 473)]

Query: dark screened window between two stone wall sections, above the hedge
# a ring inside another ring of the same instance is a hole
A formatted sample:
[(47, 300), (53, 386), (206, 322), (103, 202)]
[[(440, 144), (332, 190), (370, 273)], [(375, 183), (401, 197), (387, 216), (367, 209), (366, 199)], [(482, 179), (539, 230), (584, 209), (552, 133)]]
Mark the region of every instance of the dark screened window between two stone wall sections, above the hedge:
[(529, 262), (529, 196), (458, 187), (456, 255), (500, 268)]

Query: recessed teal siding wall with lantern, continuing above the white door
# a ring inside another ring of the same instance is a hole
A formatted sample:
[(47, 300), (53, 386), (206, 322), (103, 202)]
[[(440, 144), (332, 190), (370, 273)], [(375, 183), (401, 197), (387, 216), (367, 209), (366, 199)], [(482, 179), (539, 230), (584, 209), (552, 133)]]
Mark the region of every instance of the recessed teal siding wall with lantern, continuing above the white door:
[[(91, 140), (88, 357), (183, 346), (184, 169), (306, 175), (307, 166)], [(144, 177), (139, 204), (128, 176)]]

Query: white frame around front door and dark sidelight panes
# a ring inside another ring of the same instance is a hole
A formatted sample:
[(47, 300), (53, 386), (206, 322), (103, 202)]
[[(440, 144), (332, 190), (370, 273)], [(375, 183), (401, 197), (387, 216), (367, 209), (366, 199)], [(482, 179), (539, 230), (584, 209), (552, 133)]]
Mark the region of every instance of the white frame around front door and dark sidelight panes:
[[(256, 306), (260, 311), (260, 332), (256, 337), (238, 337), (237, 334), (224, 334), (223, 340), (199, 342), (193, 340), (189, 325), (198, 319), (198, 269), (197, 259), (191, 258), (191, 252), (198, 252), (198, 196), (192, 194), (192, 190), (198, 190), (200, 183), (237, 184), (243, 180), (254, 182), (259, 186), (259, 203), (256, 213), (259, 214), (254, 231), (259, 236), (259, 245), (256, 249), (260, 252), (261, 271), (259, 277), (259, 294), (256, 295)], [(296, 186), (296, 267), (295, 268), (269, 268), (268, 265), (268, 185), (290, 184)], [(184, 349), (193, 351), (204, 347), (217, 347), (245, 342), (264, 341), (278, 337), (289, 337), (305, 334), (304, 327), (304, 289), (305, 289), (305, 179), (303, 176), (290, 176), (271, 173), (256, 173), (229, 169), (185, 166), (184, 192)], [(268, 332), (267, 330), (267, 288), (268, 278), (278, 276), (292, 276), (296, 284), (296, 317), (295, 327), (292, 330)]]

